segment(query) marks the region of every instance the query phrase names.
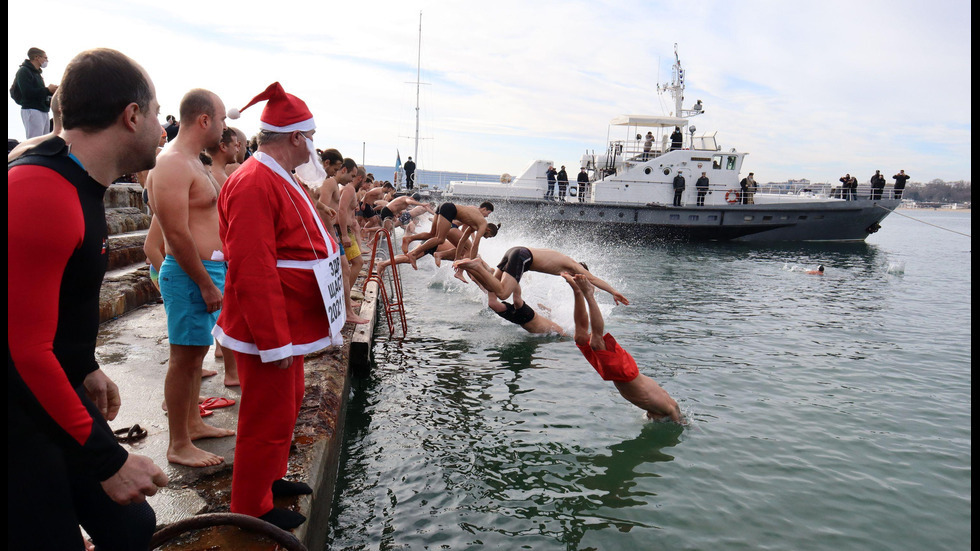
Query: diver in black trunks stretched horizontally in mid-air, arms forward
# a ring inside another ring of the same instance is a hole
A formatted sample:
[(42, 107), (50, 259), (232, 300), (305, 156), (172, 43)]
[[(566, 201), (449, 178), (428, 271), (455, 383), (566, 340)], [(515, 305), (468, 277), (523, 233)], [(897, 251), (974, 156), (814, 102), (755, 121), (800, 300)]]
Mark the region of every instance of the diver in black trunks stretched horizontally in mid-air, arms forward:
[(514, 302), (521, 296), (521, 276), (524, 272), (541, 272), (551, 275), (561, 275), (562, 272), (571, 274), (581, 274), (596, 287), (606, 291), (613, 296), (616, 304), (629, 304), (626, 299), (612, 285), (592, 275), (589, 269), (579, 262), (572, 260), (571, 257), (551, 249), (529, 249), (527, 247), (513, 247), (504, 254), (497, 269), (490, 273), (487, 265), (480, 259), (476, 260), (457, 260), (453, 263), (454, 268), (466, 270), (470, 277), (477, 281), (484, 289), (497, 295), (501, 300), (505, 300), (514, 295)]

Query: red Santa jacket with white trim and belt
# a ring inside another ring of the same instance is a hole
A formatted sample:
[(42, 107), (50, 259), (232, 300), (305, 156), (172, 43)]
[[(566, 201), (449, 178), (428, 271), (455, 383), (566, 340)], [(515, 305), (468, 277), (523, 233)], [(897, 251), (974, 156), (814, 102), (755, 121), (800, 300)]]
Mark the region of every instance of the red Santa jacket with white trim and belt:
[(325, 259), (337, 244), (321, 231), (306, 193), (272, 157), (257, 153), (221, 188), (218, 216), (228, 262), (212, 332), (218, 343), (263, 362), (329, 346), (316, 277), (294, 266)]

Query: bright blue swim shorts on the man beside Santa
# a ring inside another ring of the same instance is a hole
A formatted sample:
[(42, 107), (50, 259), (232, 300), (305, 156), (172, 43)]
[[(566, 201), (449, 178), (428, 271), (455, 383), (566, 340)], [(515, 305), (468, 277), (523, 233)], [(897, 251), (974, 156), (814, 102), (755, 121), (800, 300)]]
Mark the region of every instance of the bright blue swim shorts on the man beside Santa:
[[(225, 291), (224, 262), (202, 260), (211, 281), (222, 293)], [(208, 312), (201, 289), (194, 280), (181, 269), (177, 260), (167, 255), (160, 266), (160, 295), (167, 311), (167, 333), (170, 344), (183, 346), (211, 346), (214, 338), (211, 330), (218, 321), (217, 312)]]

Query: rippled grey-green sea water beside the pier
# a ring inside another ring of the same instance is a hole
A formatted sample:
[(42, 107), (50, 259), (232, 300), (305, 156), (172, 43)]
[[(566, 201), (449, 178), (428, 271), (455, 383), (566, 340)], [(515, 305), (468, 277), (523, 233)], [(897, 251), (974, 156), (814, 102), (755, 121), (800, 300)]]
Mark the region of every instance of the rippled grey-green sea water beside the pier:
[[(970, 234), (971, 215), (900, 211)], [(570, 339), (402, 271), (347, 415), (329, 549), (971, 545), (971, 240), (893, 214), (860, 245), (615, 243), (505, 224), (630, 298), (606, 328), (689, 425), (645, 422)], [(818, 264), (823, 277), (806, 275)], [(525, 300), (571, 329), (559, 278)]]

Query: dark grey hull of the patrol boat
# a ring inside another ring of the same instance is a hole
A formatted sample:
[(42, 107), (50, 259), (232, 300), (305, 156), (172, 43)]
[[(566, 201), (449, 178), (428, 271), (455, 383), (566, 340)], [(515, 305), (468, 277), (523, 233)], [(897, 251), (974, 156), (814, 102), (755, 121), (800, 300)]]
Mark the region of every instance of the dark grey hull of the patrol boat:
[[(878, 230), (881, 220), (901, 202), (898, 199), (884, 199), (672, 207), (656, 204), (561, 203), (499, 197), (487, 199), (494, 203), (494, 216), (503, 221), (600, 226), (616, 232), (661, 239), (741, 242), (864, 241)], [(444, 200), (454, 199), (445, 197)]]

